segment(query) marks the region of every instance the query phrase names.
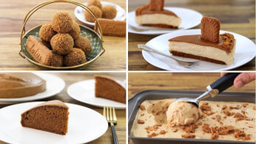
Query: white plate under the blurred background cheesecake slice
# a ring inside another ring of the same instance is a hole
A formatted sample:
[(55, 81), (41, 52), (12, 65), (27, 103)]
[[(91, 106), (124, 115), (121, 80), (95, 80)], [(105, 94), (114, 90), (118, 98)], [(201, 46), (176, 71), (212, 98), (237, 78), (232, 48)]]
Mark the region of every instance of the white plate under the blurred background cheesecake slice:
[[(200, 12), (195, 10), (181, 8), (181, 7), (164, 7), (165, 10), (170, 10), (174, 12), (179, 18), (182, 19), (182, 23), (179, 26), (179, 29), (156, 29), (150, 26), (141, 26), (135, 22), (135, 11), (128, 13), (128, 32), (141, 34), (141, 35), (161, 35), (168, 32), (176, 32), (180, 29), (191, 29), (201, 23), (203, 15)], [(140, 29), (150, 29), (148, 31), (138, 32), (132, 29), (132, 26), (135, 26)]]

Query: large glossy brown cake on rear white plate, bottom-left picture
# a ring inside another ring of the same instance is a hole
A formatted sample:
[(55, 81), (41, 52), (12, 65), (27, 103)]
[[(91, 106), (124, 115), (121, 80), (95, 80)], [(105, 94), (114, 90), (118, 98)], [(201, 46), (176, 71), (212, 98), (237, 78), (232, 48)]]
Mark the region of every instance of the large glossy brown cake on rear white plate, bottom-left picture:
[(33, 96), (46, 90), (46, 81), (33, 73), (0, 73), (0, 98)]

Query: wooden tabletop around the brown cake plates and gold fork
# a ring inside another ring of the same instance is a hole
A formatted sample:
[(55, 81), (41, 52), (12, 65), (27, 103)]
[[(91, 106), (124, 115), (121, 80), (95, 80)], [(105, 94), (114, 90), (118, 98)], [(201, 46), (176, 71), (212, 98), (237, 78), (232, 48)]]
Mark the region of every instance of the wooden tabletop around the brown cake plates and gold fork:
[[(57, 94), (56, 96), (53, 96), (51, 98), (45, 98), (45, 99), (40, 99), (38, 101), (51, 101), (51, 100), (60, 100), (60, 101), (64, 101), (64, 102), (68, 102), (71, 104), (79, 104), (81, 106), (84, 107), (88, 107), (90, 109), (95, 110), (96, 112), (99, 112), (102, 114), (103, 109), (99, 108), (99, 107), (93, 107), (89, 104), (84, 104), (82, 102), (76, 101), (73, 98), (71, 98), (70, 96), (68, 96), (67, 93), (67, 88), (70, 84), (73, 84), (74, 82), (79, 82), (85, 79), (93, 79), (94, 74), (98, 74), (98, 75), (105, 75), (105, 76), (111, 76), (114, 79), (117, 80), (124, 80), (126, 79), (126, 74), (125, 73), (51, 73), (54, 74), (56, 76), (60, 76), (60, 78), (62, 78), (65, 81), (65, 89)], [(9, 104), (8, 104), (9, 105)], [(7, 107), (7, 104), (0, 104), (0, 108), (2, 107)], [(118, 137), (118, 142), (119, 143), (126, 143), (126, 110), (117, 110), (116, 109), (116, 115), (118, 118), (118, 123), (115, 125), (115, 131)], [(86, 136), (85, 136), (86, 137)], [(99, 137), (98, 139), (94, 140), (93, 143), (97, 143), (97, 144), (105, 144), (105, 143), (113, 143), (113, 139), (112, 139), (112, 133), (111, 133), (111, 128), (109, 126), (109, 128), (107, 129), (107, 132), (102, 135), (102, 137)], [(0, 140), (0, 144), (5, 144), (4, 142), (2, 142)]]

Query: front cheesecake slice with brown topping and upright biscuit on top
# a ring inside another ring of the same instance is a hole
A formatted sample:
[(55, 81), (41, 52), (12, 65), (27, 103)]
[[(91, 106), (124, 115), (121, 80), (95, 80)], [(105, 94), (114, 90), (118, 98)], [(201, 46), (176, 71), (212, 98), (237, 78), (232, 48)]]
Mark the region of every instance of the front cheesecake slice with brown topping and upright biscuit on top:
[(171, 54), (179, 57), (231, 65), (235, 56), (235, 37), (230, 33), (219, 35), (220, 23), (216, 18), (204, 17), (201, 35), (182, 35), (168, 40)]

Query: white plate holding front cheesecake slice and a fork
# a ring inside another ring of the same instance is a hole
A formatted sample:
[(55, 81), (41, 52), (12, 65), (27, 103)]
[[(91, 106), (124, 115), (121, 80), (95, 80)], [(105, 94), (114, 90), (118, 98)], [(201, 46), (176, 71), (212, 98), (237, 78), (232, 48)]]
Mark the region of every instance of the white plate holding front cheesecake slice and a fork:
[[(220, 34), (224, 32), (227, 31), (221, 30)], [(159, 54), (154, 54), (148, 51), (142, 51), (142, 55), (144, 59), (150, 64), (156, 66), (157, 68), (162, 68), (167, 71), (227, 71), (233, 68), (238, 68), (239, 66), (246, 64), (255, 57), (255, 43), (253, 43), (252, 40), (249, 40), (247, 37), (244, 37), (243, 35), (238, 35), (233, 32), (228, 33), (234, 35), (236, 39), (235, 59), (233, 60), (231, 65), (218, 65), (212, 62), (199, 61), (199, 65), (196, 67), (182, 68), (179, 65), (177, 65), (177, 63), (174, 62), (174, 60), (171, 60), (168, 57), (163, 57)], [(178, 37), (181, 35), (200, 34), (201, 29), (180, 30), (177, 32), (171, 32), (165, 35), (154, 37), (152, 40), (149, 40), (149, 42), (146, 43), (146, 46), (149, 46), (157, 51), (160, 51), (164, 54), (168, 54), (171, 56), (172, 54), (170, 54), (170, 52), (168, 51), (168, 39)], [(191, 61), (191, 59), (188, 58), (176, 58), (178, 60)]]

